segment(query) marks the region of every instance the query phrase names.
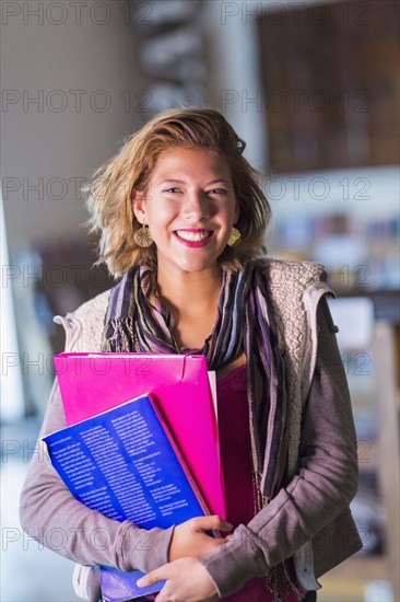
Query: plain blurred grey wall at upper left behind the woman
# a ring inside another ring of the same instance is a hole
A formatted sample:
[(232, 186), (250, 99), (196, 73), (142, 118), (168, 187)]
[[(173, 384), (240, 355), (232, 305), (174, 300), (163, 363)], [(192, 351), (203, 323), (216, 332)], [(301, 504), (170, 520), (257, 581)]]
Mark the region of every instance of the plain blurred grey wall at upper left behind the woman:
[(82, 236), (80, 183), (136, 129), (125, 91), (134, 97), (141, 79), (125, 4), (2, 2), (1, 176), (11, 247)]

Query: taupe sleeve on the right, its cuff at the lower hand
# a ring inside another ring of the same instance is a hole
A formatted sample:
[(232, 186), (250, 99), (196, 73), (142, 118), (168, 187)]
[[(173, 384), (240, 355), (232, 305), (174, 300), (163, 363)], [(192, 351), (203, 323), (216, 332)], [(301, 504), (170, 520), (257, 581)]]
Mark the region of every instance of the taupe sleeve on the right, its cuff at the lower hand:
[(233, 539), (200, 558), (221, 598), (293, 556), (328, 525), (357, 488), (356, 438), (336, 326), (318, 305), (316, 368), (304, 410), (297, 471), (287, 486)]

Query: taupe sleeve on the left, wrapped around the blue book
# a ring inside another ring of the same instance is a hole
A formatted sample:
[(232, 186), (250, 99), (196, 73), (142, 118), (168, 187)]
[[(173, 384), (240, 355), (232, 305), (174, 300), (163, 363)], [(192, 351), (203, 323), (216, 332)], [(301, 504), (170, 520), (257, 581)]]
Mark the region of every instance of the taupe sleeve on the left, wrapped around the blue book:
[(57, 381), (20, 500), (20, 520), (30, 536), (83, 565), (153, 570), (167, 562), (174, 528), (140, 529), (89, 509), (68, 490), (51, 466), (40, 438), (66, 426)]

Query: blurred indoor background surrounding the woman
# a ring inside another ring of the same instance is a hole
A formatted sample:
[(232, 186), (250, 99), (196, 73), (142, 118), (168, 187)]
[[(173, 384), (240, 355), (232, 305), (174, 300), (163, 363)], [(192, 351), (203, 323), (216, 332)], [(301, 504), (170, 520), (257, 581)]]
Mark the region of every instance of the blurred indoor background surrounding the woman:
[(17, 519), (63, 347), (52, 316), (111, 285), (82, 186), (179, 104), (232, 123), (272, 206), (270, 255), (325, 263), (338, 294), (364, 548), (319, 600), (400, 600), (399, 3), (4, 0), (1, 28), (1, 600), (77, 600), (72, 563)]

